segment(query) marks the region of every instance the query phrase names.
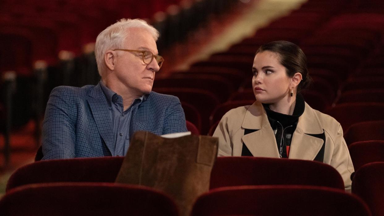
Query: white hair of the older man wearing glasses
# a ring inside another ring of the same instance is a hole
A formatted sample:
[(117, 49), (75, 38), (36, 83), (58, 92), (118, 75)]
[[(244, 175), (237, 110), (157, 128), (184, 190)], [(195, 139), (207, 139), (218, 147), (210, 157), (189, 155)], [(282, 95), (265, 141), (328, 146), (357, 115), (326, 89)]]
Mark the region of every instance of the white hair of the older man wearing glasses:
[(104, 63), (105, 52), (108, 49), (124, 48), (124, 40), (127, 37), (129, 28), (144, 28), (151, 33), (155, 41), (159, 38), (159, 31), (141, 19), (132, 20), (122, 18), (116, 23), (108, 26), (97, 36), (95, 44), (96, 63), (100, 76), (106, 68)]

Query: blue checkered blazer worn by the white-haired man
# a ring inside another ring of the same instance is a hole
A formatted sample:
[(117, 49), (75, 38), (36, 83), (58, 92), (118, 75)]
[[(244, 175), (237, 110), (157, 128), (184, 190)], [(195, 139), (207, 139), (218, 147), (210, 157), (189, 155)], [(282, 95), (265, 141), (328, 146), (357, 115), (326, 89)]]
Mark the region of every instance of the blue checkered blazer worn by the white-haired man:
[[(44, 159), (113, 155), (111, 113), (100, 84), (52, 90), (42, 132)], [(129, 134), (185, 132), (184, 110), (175, 96), (151, 92), (132, 113)]]

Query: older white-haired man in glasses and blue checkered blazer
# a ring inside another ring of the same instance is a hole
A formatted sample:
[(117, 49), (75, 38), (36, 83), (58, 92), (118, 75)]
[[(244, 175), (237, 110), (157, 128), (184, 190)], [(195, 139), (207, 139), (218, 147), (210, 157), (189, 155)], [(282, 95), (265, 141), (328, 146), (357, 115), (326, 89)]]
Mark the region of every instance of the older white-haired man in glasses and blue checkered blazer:
[(187, 131), (179, 99), (151, 91), (164, 61), (158, 37), (139, 19), (121, 19), (99, 34), (95, 55), (101, 81), (53, 89), (43, 122), (43, 160), (125, 155), (137, 130)]

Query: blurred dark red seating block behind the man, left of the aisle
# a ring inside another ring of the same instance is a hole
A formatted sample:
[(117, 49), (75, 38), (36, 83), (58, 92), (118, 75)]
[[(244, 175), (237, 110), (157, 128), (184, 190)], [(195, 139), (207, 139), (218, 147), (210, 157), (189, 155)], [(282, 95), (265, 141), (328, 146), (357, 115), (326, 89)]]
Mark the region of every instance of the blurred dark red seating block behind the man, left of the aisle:
[[(161, 52), (185, 40), (209, 17), (237, 7), (236, 0), (1, 1), (0, 90), (6, 95), (0, 97), (0, 120), (12, 117), (12, 129), (17, 129), (30, 118), (41, 118), (54, 87), (97, 84), (93, 43), (101, 30), (120, 18), (150, 18), (160, 31)], [(11, 80), (8, 71), (16, 75)], [(15, 82), (12, 91), (7, 88), (10, 81)], [(12, 115), (5, 113), (8, 96), (13, 97)], [(20, 103), (31, 109), (21, 110)]]

